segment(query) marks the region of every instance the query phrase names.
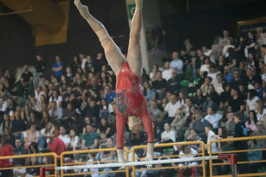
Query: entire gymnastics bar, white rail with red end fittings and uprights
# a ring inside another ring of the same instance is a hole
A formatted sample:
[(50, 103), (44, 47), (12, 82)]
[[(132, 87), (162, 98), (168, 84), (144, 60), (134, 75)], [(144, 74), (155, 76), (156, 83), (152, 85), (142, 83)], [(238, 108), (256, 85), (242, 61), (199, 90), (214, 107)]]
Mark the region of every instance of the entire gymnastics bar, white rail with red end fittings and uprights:
[(205, 157), (191, 157), (191, 158), (181, 158), (181, 159), (178, 158), (178, 159), (153, 160), (153, 161), (141, 161), (141, 162), (129, 162), (129, 163), (108, 163), (108, 164), (75, 165), (75, 166), (62, 166), (62, 167), (41, 167), (40, 177), (45, 177), (46, 171), (74, 170), (74, 169), (85, 169), (85, 168), (110, 168), (110, 167), (124, 167), (124, 166), (135, 166), (135, 165), (154, 165), (154, 164), (162, 164), (162, 163), (178, 163), (178, 162), (215, 160), (215, 159), (230, 159), (231, 165), (232, 165), (232, 175), (233, 177), (237, 177), (236, 154), (224, 154), (224, 155), (213, 155), (213, 156), (205, 156)]

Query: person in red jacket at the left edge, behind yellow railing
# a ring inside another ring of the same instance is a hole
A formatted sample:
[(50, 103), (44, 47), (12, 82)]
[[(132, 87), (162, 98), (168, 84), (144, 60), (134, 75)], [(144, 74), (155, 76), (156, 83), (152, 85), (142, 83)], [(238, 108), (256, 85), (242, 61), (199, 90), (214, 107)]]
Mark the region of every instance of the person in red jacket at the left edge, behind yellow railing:
[[(1, 137), (1, 149), (0, 156), (11, 156), (14, 155), (13, 147), (9, 143), (9, 139), (7, 136)], [(0, 168), (12, 167), (12, 162), (10, 159), (0, 160)], [(1, 177), (6, 177), (10, 175), (11, 170), (1, 170)]]

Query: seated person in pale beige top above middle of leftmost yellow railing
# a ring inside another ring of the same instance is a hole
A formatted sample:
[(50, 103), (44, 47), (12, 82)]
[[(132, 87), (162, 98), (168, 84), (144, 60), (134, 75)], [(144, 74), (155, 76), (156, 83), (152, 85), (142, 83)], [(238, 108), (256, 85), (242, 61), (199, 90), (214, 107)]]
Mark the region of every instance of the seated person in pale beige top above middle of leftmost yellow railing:
[(25, 148), (29, 149), (29, 145), (31, 142), (38, 142), (38, 137), (40, 133), (35, 129), (36, 125), (33, 123), (29, 124), (29, 129), (24, 132), (24, 142), (25, 142)]

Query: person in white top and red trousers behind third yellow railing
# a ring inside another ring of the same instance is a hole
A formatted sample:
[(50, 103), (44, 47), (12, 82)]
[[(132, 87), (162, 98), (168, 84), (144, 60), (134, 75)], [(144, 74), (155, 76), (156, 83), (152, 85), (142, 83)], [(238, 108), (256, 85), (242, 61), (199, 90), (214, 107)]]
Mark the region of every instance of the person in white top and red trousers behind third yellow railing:
[[(186, 155), (187, 156), (183, 156)], [(197, 157), (197, 155), (193, 155), (193, 154), (197, 154), (197, 151), (194, 150), (192, 147), (190, 147), (189, 145), (184, 145), (182, 146), (182, 151), (179, 153), (179, 158), (192, 158), (192, 157)], [(198, 165), (198, 161), (187, 161), (187, 162), (182, 162), (179, 163), (178, 166), (193, 166), (193, 165)], [(197, 176), (197, 167), (186, 167), (186, 168), (179, 168), (178, 170), (178, 176), (192, 176), (192, 177), (196, 177)]]

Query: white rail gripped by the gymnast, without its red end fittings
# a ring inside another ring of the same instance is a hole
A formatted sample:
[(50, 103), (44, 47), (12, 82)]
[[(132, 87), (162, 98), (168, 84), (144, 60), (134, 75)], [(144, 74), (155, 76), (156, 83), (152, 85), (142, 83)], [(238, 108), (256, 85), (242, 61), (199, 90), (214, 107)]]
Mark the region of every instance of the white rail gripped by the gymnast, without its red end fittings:
[(166, 159), (166, 160), (140, 161), (140, 162), (129, 162), (129, 163), (107, 163), (107, 164), (95, 164), (95, 165), (64, 166), (64, 167), (55, 167), (54, 170), (74, 170), (74, 169), (85, 169), (85, 168), (110, 168), (110, 167), (153, 165), (153, 164), (162, 164), (162, 163), (178, 163), (178, 162), (189, 162), (189, 161), (199, 161), (199, 160), (215, 160), (215, 159), (218, 159), (218, 155), (206, 156), (206, 157), (190, 157), (190, 158), (177, 158), (177, 159)]

